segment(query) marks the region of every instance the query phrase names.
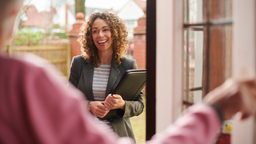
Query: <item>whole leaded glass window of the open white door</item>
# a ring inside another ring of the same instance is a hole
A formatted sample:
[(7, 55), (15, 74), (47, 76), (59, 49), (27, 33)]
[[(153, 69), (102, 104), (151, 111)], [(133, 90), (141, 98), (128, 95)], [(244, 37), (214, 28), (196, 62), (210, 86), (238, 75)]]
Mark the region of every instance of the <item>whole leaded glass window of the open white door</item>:
[(183, 108), (231, 77), (232, 0), (185, 0)]

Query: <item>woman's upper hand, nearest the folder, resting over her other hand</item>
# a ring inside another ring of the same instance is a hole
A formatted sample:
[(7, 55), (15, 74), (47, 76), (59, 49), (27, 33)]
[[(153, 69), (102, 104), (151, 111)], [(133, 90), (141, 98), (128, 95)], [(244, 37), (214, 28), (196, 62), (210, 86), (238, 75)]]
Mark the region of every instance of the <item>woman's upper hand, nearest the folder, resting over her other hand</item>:
[(125, 101), (121, 95), (109, 94), (104, 102), (104, 105), (110, 109), (121, 108), (123, 111), (125, 111)]

